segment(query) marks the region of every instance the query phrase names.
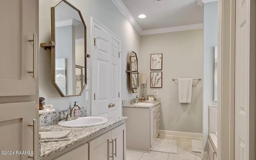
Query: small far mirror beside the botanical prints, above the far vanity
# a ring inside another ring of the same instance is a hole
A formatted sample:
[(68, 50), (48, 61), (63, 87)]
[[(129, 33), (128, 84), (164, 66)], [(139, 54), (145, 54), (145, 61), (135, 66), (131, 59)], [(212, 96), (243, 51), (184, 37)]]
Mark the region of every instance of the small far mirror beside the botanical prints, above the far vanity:
[(132, 93), (138, 93), (139, 88), (139, 72), (138, 72), (138, 58), (137, 54), (132, 51), (130, 54), (130, 70), (126, 70), (129, 73), (130, 85)]

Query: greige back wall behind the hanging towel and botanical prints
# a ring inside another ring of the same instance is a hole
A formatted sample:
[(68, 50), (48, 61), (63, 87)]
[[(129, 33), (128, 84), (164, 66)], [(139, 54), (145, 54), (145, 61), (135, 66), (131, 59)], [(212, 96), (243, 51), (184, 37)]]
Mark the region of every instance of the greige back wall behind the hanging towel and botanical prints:
[[(150, 54), (162, 53), (162, 88), (150, 88)], [(140, 73), (147, 75), (145, 95), (158, 90), (161, 130), (202, 133), (202, 81), (194, 80), (192, 102), (178, 101), (178, 83), (172, 78), (203, 77), (203, 29), (141, 36)]]

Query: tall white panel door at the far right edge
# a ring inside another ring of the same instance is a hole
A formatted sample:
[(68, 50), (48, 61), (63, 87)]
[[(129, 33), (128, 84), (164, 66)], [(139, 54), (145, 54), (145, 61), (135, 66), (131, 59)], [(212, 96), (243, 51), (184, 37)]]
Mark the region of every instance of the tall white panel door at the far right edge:
[(250, 0), (236, 0), (235, 160), (248, 160)]

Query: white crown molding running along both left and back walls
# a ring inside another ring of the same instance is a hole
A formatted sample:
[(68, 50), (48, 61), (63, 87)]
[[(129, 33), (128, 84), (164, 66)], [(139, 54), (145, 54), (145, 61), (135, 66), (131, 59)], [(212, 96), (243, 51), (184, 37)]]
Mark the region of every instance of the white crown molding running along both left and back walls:
[(151, 35), (151, 34), (157, 34), (157, 33), (186, 31), (186, 30), (192, 30), (192, 29), (201, 29), (204, 27), (203, 23), (198, 23), (198, 24), (179, 25), (179, 26), (174, 26), (174, 27), (142, 30), (142, 28), (140, 27), (138, 22), (134, 19), (134, 17), (129, 12), (129, 10), (126, 8), (126, 6), (122, 2), (122, 0), (112, 0), (112, 2), (116, 5), (116, 7), (120, 10), (120, 12), (124, 15), (126, 20), (128, 20), (130, 22), (130, 24), (134, 27), (134, 29), (140, 35)]

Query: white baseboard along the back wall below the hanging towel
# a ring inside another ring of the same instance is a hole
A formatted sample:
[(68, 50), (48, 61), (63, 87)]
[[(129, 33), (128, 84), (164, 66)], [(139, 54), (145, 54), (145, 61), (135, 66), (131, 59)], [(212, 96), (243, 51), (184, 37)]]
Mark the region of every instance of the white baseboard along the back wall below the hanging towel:
[(160, 135), (173, 136), (173, 137), (186, 137), (191, 139), (202, 139), (202, 133), (192, 133), (192, 132), (160, 130)]

